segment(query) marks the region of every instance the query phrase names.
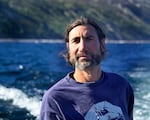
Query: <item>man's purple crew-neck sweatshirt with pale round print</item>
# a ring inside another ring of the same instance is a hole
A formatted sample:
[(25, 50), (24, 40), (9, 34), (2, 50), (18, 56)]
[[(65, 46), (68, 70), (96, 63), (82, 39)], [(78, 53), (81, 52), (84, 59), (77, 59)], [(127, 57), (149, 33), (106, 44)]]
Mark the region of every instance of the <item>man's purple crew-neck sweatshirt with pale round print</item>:
[(45, 93), (40, 120), (133, 120), (133, 90), (124, 78), (103, 72), (97, 82), (79, 83), (70, 75)]

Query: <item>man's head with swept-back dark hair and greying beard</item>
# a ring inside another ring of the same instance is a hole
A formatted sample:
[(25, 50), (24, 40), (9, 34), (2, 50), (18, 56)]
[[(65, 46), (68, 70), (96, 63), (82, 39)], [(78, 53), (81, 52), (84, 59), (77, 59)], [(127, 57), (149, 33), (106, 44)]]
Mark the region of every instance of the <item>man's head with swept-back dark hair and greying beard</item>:
[(86, 17), (76, 19), (66, 29), (66, 60), (80, 70), (100, 64), (105, 54), (104, 40), (105, 34), (95, 21)]

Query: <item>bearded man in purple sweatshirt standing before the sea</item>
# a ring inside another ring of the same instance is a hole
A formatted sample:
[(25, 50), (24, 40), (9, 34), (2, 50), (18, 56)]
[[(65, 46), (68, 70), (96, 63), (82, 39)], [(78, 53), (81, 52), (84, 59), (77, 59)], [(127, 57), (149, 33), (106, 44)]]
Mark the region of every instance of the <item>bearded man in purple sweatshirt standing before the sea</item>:
[(66, 29), (67, 61), (74, 72), (44, 95), (41, 120), (133, 120), (133, 90), (121, 76), (101, 70), (105, 34), (81, 17)]

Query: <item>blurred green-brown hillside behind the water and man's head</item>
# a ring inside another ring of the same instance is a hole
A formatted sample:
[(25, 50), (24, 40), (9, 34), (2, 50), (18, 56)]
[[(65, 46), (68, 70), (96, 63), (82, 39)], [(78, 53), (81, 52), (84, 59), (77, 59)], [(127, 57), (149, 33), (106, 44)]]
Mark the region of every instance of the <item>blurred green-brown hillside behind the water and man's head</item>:
[(150, 0), (0, 0), (0, 38), (63, 39), (79, 16), (95, 18), (107, 39), (150, 40)]

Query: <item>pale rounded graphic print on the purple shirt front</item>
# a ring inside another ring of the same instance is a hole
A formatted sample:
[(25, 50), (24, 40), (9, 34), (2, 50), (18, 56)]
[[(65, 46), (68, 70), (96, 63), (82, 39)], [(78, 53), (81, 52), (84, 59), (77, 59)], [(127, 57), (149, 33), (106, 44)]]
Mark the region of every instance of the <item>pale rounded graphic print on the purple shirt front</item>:
[(85, 120), (125, 120), (125, 118), (120, 107), (103, 101), (91, 107)]

